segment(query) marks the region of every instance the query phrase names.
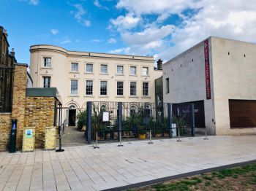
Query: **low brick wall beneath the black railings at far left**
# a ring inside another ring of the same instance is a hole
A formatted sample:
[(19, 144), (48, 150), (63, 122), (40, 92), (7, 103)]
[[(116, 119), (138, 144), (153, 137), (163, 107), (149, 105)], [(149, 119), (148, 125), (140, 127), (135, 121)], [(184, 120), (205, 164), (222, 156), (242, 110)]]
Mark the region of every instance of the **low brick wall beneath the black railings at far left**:
[(12, 126), (11, 118), (11, 114), (0, 114), (0, 151), (8, 149)]

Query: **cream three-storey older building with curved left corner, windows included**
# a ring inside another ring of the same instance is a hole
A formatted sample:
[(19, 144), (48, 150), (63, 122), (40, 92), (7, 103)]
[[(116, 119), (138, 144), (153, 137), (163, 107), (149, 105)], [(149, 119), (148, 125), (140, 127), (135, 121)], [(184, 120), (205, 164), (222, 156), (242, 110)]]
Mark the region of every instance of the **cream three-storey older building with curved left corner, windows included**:
[[(87, 101), (155, 102), (151, 56), (115, 55), (65, 50), (52, 45), (30, 47), (33, 87), (57, 87), (68, 119)], [(69, 125), (75, 125), (69, 120)]]

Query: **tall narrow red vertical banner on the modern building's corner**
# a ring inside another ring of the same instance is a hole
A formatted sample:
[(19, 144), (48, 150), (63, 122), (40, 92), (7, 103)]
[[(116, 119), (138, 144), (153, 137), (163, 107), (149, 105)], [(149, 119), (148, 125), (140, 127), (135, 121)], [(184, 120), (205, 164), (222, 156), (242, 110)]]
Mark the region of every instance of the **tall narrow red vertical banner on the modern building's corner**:
[(211, 79), (210, 79), (210, 59), (209, 59), (209, 42), (204, 41), (205, 69), (206, 69), (206, 99), (211, 99)]

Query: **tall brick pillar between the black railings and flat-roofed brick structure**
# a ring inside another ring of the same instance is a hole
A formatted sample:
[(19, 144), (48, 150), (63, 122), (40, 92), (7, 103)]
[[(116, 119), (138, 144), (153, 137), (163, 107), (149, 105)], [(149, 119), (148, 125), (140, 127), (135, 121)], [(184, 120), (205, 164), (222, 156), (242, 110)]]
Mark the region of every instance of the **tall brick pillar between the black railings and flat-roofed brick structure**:
[(26, 101), (26, 65), (15, 64), (12, 95), (12, 119), (17, 119), (16, 149), (21, 149)]

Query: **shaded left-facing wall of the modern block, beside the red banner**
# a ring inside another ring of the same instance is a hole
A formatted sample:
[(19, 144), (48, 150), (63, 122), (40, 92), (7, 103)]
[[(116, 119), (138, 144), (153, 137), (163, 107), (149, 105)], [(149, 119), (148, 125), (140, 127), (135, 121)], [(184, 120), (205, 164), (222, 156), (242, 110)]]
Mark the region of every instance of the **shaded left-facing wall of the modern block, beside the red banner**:
[[(181, 53), (163, 65), (164, 102), (183, 103), (204, 101), (206, 127), (208, 133), (215, 134), (214, 120), (214, 84), (211, 62), (211, 40), (209, 40), (211, 99), (206, 100), (206, 72), (204, 64), (204, 44)], [(166, 80), (169, 78), (170, 93), (166, 93)], [(215, 120), (214, 120), (215, 121)]]

